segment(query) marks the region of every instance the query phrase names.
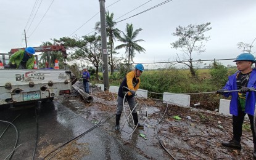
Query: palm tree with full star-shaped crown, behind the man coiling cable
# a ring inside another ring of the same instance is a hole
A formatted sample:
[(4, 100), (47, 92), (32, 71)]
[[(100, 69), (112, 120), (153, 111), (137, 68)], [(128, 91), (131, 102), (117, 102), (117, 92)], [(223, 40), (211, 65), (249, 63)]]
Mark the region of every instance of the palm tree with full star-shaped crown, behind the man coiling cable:
[[(133, 58), (135, 57), (135, 52), (138, 52), (139, 54), (141, 52), (146, 51), (143, 47), (139, 46), (138, 42), (144, 41), (143, 39), (136, 39), (136, 36), (138, 36), (139, 31), (142, 31), (141, 28), (133, 31), (133, 24), (126, 24), (126, 34), (122, 32), (123, 36), (119, 38), (119, 41), (123, 42), (123, 44), (120, 44), (119, 46), (115, 47), (116, 49), (122, 49), (125, 48), (125, 54), (128, 58), (128, 68), (130, 65), (130, 60), (133, 62)], [(127, 68), (127, 69), (128, 69)]]

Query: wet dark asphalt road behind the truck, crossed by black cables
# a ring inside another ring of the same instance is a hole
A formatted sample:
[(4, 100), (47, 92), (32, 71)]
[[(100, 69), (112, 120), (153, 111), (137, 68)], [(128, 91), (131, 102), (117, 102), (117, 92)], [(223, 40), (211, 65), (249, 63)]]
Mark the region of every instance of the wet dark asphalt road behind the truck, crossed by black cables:
[[(19, 132), (18, 140), (14, 127), (9, 126), (4, 132), (8, 124), (0, 122), (0, 135), (2, 135), (0, 138), (0, 159), (7, 158), (7, 155), (14, 149), (16, 140), (19, 147), (11, 159), (33, 159), (36, 146), (35, 105), (30, 105), (30, 108), (26, 109), (0, 110), (0, 120), (12, 122), (14, 119), (13, 124)], [(41, 151), (47, 146), (59, 146), (60, 143), (65, 143), (83, 134), (93, 126), (94, 124), (90, 121), (73, 113), (55, 100), (42, 103), (41, 109), (38, 111), (38, 145), (36, 146), (35, 159), (41, 156)], [(133, 148), (123, 145), (122, 142), (97, 127), (83, 135), (77, 142), (88, 144), (89, 150), (89, 154), (79, 153), (80, 156), (77, 159), (147, 159)], [(46, 159), (49, 158), (51, 156)]]

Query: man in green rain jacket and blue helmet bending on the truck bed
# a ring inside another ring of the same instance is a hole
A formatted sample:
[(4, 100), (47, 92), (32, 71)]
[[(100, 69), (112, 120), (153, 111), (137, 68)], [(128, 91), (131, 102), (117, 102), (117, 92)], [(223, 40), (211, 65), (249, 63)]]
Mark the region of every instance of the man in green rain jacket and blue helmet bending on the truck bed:
[(35, 54), (33, 47), (15, 52), (9, 59), (10, 68), (33, 69), (35, 62), (35, 55), (33, 54)]

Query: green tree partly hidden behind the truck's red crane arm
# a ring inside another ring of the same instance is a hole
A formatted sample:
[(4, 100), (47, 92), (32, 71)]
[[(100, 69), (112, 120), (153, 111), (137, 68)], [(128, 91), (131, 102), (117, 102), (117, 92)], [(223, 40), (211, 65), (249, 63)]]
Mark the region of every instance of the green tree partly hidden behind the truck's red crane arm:
[[(49, 41), (43, 42), (40, 46), (53, 46), (53, 44)], [(55, 60), (59, 61), (59, 67), (64, 68), (64, 57), (62, 55), (62, 52), (60, 51), (46, 51), (43, 52), (40, 61), (42, 63), (41, 67), (44, 67), (44, 64), (46, 62), (49, 63), (49, 67), (54, 67)]]

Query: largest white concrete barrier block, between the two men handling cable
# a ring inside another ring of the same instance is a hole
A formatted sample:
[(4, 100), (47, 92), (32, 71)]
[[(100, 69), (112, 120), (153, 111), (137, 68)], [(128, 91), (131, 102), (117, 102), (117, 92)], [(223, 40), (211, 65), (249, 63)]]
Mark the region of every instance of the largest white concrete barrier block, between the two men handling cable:
[(164, 92), (163, 102), (178, 106), (190, 106), (190, 95)]

